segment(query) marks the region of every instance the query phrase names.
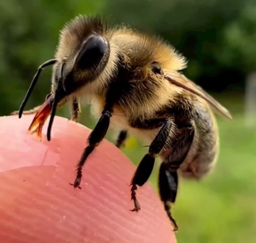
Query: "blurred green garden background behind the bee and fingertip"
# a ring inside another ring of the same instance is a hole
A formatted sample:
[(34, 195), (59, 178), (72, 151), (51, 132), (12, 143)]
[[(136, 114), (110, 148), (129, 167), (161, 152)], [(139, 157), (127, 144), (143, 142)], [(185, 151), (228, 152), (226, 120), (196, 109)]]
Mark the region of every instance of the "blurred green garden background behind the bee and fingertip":
[[(60, 28), (78, 14), (102, 14), (110, 23), (162, 35), (188, 57), (185, 75), (231, 111), (232, 121), (218, 118), (221, 148), (214, 172), (201, 182), (181, 181), (173, 207), (180, 225), (177, 238), (182, 243), (255, 242), (256, 127), (253, 116), (252, 125), (246, 123), (245, 101), (251, 99), (247, 77), (256, 69), (256, 1), (2, 0), (0, 115), (18, 110), (37, 67), (53, 57)], [(49, 93), (50, 69), (43, 72), (27, 108)], [(83, 110), (81, 122), (92, 128), (88, 107)], [(68, 117), (68, 107), (59, 114)], [(124, 152), (134, 163), (146, 151), (142, 145), (147, 144), (134, 138), (126, 143)], [(157, 166), (150, 179), (154, 186), (156, 175)]]

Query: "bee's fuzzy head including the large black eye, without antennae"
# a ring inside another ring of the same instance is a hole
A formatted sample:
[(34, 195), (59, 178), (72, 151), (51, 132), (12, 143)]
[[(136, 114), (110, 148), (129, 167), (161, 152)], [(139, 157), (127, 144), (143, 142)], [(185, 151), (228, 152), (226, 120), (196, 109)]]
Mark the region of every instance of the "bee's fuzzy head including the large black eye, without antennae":
[(55, 54), (53, 93), (62, 86), (69, 95), (101, 75), (110, 56), (106, 30), (106, 22), (98, 17), (79, 16), (64, 26)]

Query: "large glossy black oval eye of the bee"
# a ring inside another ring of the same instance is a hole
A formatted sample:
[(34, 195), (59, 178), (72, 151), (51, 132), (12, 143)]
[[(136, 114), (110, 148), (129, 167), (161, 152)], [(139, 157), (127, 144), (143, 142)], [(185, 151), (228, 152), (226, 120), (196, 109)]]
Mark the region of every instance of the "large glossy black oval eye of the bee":
[(83, 44), (75, 65), (80, 69), (97, 67), (104, 53), (109, 49), (108, 42), (100, 35), (92, 35)]

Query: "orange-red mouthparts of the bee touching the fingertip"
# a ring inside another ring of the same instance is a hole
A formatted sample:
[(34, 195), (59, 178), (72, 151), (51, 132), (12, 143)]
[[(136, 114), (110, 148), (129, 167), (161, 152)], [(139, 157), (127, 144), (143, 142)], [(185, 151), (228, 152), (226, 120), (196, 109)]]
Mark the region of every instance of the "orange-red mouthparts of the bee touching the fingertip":
[(38, 137), (42, 137), (42, 129), (45, 120), (51, 114), (51, 97), (48, 98), (42, 106), (39, 108), (37, 114), (34, 116), (32, 123), (29, 126), (29, 131), (31, 133), (36, 132)]

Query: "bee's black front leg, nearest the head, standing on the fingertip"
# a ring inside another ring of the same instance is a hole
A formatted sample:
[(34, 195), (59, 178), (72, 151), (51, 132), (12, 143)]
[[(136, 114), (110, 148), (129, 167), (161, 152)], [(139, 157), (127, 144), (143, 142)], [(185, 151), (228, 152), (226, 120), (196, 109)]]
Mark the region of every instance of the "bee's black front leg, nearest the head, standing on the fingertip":
[(79, 187), (81, 178), (82, 178), (82, 167), (89, 156), (89, 154), (94, 151), (95, 147), (97, 147), (100, 143), (100, 141), (104, 138), (106, 135), (109, 123), (110, 123), (110, 117), (112, 116), (112, 109), (104, 109), (102, 112), (102, 115), (96, 124), (94, 130), (91, 131), (88, 143), (89, 145), (85, 148), (82, 157), (80, 158), (78, 164), (77, 164), (77, 173), (76, 173), (76, 179), (73, 184), (71, 184), (74, 187)]

